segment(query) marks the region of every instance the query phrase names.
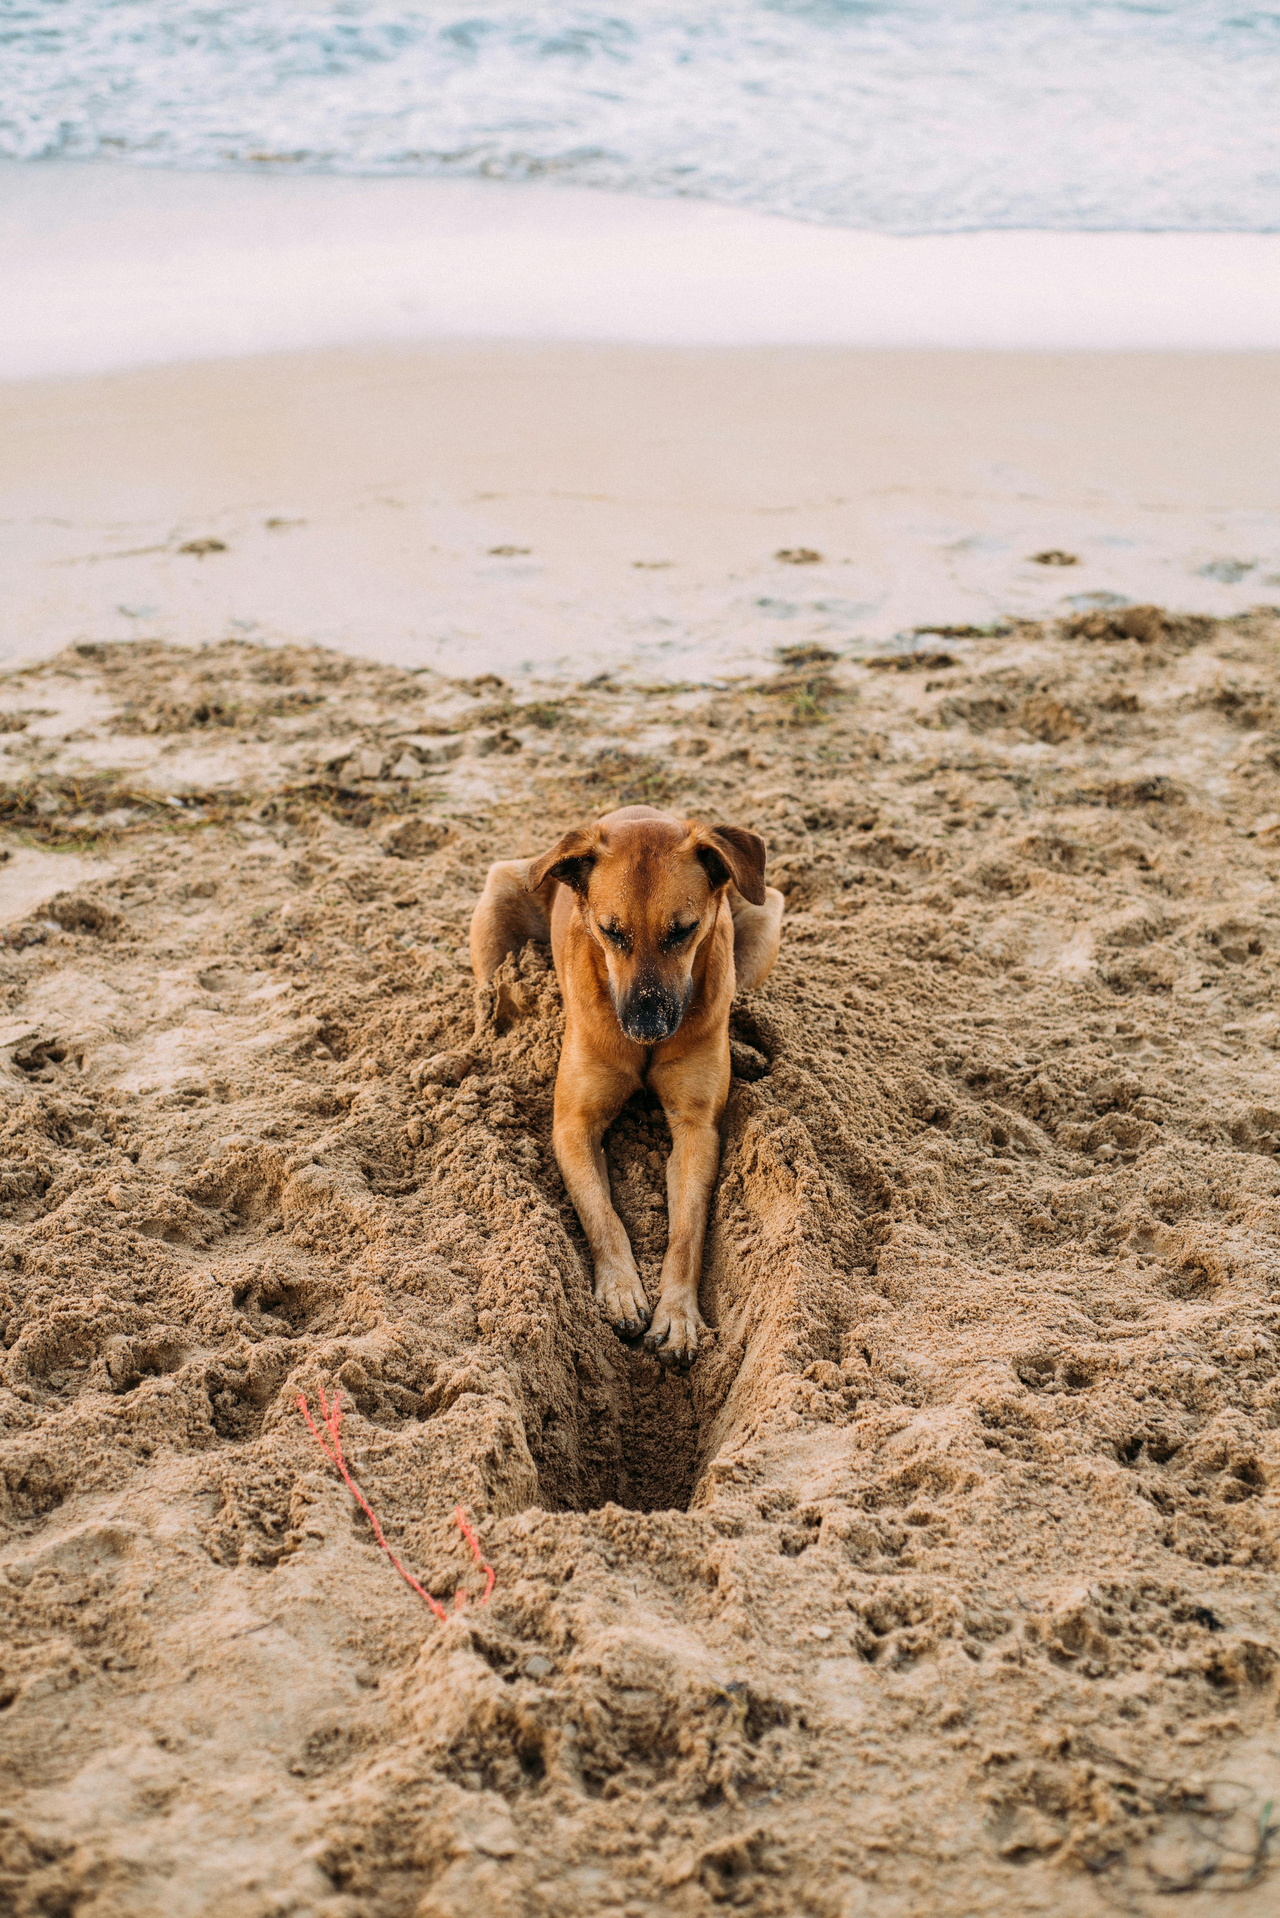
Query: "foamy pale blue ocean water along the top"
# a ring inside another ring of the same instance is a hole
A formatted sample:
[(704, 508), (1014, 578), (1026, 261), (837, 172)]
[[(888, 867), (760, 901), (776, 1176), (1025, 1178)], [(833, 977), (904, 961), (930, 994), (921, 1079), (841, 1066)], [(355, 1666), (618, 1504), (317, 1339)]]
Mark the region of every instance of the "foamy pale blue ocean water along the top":
[(555, 178), (881, 232), (1280, 230), (1280, 6), (0, 0), (0, 155)]

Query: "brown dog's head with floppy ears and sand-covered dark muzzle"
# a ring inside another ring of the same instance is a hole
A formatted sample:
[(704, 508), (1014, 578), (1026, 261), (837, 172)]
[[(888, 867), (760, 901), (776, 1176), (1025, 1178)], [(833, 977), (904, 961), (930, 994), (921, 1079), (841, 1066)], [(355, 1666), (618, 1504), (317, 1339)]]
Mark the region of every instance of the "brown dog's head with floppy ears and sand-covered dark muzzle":
[(693, 963), (723, 890), (764, 903), (764, 840), (743, 827), (702, 827), (635, 806), (566, 832), (530, 865), (530, 890), (558, 878), (604, 953), (618, 1024), (639, 1045), (677, 1030)]

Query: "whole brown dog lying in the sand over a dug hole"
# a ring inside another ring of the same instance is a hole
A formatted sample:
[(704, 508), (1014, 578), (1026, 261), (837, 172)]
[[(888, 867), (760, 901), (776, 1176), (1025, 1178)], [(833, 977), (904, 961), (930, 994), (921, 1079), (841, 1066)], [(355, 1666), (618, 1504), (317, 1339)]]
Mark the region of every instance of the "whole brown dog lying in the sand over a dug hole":
[[(764, 840), (626, 806), (566, 832), (539, 859), (503, 859), (470, 924), (484, 984), (524, 940), (551, 940), (564, 997), (555, 1153), (595, 1260), (595, 1297), (658, 1358), (699, 1348), (706, 1206), (729, 1095), (729, 1005), (777, 957), (783, 896), (764, 884)], [(651, 1312), (608, 1195), (603, 1137), (641, 1086), (672, 1128), (670, 1233)]]

